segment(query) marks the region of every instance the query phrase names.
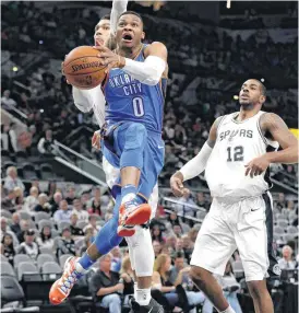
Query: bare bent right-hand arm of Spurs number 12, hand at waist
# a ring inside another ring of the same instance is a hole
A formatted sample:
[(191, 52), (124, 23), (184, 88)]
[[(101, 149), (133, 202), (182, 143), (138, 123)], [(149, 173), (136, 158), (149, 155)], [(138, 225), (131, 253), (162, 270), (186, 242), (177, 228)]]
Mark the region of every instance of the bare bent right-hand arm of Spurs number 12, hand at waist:
[(265, 113), (261, 116), (260, 127), (265, 135), (277, 141), (283, 150), (268, 152), (249, 162), (246, 175), (251, 177), (262, 174), (271, 163), (298, 163), (298, 140), (289, 131), (285, 121), (274, 113)]

